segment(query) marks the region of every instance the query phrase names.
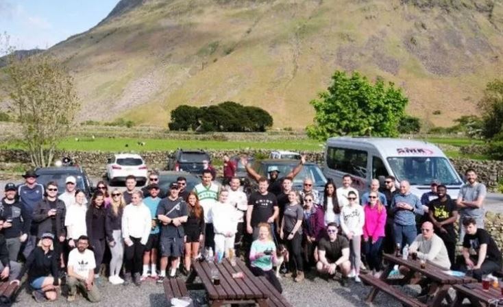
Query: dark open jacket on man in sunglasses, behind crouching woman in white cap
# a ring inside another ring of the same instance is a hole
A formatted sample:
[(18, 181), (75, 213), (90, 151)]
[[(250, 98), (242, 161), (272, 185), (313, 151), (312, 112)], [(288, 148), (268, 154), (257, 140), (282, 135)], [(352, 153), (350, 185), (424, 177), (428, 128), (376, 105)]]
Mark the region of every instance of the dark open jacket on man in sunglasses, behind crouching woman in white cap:
[[(51, 217), (47, 216), (47, 213), (51, 210), (51, 205), (47, 198), (42, 199), (38, 204), (36, 204), (33, 211), (33, 221), (38, 223), (37, 238), (42, 238), (42, 234), (50, 232), (53, 234), (52, 230), (52, 220)], [(56, 238), (58, 240), (60, 236), (66, 236), (66, 229), (64, 228), (64, 218), (66, 217), (66, 205), (61, 199), (56, 199)]]

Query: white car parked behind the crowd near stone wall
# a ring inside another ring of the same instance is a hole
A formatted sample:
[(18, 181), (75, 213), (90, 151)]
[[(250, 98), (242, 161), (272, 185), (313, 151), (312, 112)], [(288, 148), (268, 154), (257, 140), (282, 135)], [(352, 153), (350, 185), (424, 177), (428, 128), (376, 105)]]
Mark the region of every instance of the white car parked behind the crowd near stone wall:
[(136, 181), (147, 181), (147, 165), (140, 155), (134, 153), (119, 153), (108, 159), (106, 175), (110, 184), (124, 182), (129, 175), (134, 175)]

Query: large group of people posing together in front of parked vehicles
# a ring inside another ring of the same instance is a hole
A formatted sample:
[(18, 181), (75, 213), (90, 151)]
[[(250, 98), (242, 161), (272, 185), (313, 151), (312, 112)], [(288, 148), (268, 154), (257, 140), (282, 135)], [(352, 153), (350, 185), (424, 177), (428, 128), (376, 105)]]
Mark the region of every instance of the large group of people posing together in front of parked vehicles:
[[(39, 302), (56, 299), (62, 283), (70, 302), (77, 293), (98, 302), (103, 265), (111, 284), (140, 286), (147, 279), (162, 283), (187, 275), (193, 261), (212, 254), (242, 257), (252, 273), (264, 275), (280, 292), (273, 267), (284, 264), (282, 274), (295, 282), (303, 282), (311, 269), (339, 275), (343, 283), (360, 282), (362, 271), (382, 273), (383, 252), (404, 248), (478, 280), (502, 269), (500, 249), (483, 229), (486, 189), (472, 169), (457, 199), (437, 180), (417, 197), (406, 180), (397, 184), (393, 176), (382, 188), (372, 180), (360, 195), (352, 176), (344, 175), (341, 186), (329, 179), (318, 193), (309, 177), (302, 178), (299, 191), (293, 189), (304, 158), (284, 177), (276, 167), (262, 177), (243, 158), (258, 183), (247, 195), (234, 176), (236, 167), (224, 162), (225, 184), (205, 169), (193, 191), (186, 190), (184, 177), (161, 191), (158, 173), (151, 171), (141, 190), (128, 176), (125, 191), (99, 182), (90, 199), (75, 188), (73, 176), (58, 197), (56, 182), (42, 186), (36, 173), (27, 171), (25, 183), (5, 185), (1, 200), (0, 278), (19, 283), (27, 273)], [(462, 250), (456, 258), (458, 241)]]

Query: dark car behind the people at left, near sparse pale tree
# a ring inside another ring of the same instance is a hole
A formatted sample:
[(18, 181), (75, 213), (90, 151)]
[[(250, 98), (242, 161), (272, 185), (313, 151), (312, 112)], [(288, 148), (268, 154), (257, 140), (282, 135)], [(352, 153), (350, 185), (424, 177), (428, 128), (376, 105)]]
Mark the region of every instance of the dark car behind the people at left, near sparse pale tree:
[(58, 183), (58, 195), (66, 188), (66, 177), (73, 176), (77, 180), (75, 189), (82, 190), (86, 196), (93, 193), (93, 184), (82, 167), (41, 167), (35, 170), (37, 182), (47, 187), (51, 181)]

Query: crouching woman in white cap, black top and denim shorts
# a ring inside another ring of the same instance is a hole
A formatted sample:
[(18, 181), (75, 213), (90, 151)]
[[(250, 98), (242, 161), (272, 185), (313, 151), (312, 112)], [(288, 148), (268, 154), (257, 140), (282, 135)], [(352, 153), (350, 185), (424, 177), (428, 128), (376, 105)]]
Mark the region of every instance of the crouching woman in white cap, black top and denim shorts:
[[(28, 283), (34, 289), (32, 295), (37, 302), (46, 299), (54, 301), (58, 298), (60, 280), (58, 279), (59, 256), (54, 251), (54, 235), (47, 232), (42, 234), (37, 247), (29, 254), (21, 273), (12, 283), (20, 283), (21, 278), (28, 272)], [(52, 275), (52, 276), (49, 276)]]

